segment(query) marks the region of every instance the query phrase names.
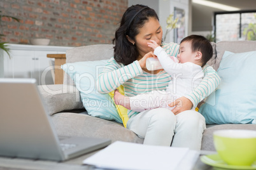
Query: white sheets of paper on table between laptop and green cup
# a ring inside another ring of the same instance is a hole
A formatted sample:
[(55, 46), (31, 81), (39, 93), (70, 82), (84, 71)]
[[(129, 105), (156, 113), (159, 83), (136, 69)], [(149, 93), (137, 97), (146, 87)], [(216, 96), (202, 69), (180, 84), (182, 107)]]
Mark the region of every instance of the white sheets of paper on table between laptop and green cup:
[(83, 160), (107, 169), (177, 169), (188, 148), (160, 147), (116, 141), (91, 157)]

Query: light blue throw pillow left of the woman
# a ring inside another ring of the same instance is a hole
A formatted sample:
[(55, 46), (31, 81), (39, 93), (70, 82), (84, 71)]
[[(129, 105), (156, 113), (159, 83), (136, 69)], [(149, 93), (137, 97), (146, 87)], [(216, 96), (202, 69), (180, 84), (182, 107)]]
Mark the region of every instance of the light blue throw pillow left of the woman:
[(108, 94), (96, 91), (96, 80), (108, 60), (66, 63), (62, 69), (73, 79), (80, 91), (83, 106), (89, 115), (122, 123), (115, 104)]

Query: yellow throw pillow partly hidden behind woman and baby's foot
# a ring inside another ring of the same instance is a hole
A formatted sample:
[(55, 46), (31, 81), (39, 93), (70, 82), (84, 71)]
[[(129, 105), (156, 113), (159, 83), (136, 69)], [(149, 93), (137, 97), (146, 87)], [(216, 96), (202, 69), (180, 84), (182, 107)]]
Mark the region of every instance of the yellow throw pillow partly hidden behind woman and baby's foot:
[[(124, 95), (124, 86), (119, 86), (117, 89), (122, 95)], [(108, 95), (110, 95), (110, 97), (114, 101), (114, 91), (111, 91), (110, 93), (108, 93)], [(123, 121), (124, 127), (126, 128), (127, 121), (129, 120), (129, 117), (127, 115), (127, 108), (116, 104), (115, 107), (117, 108), (118, 115)]]

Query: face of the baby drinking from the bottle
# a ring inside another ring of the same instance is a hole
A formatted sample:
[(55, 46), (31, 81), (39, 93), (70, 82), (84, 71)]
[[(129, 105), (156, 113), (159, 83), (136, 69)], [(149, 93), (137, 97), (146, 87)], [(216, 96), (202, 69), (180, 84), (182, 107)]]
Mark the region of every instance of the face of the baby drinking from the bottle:
[(180, 51), (177, 56), (178, 60), (180, 60), (180, 63), (194, 63), (194, 55), (196, 56), (196, 53), (192, 52), (191, 42), (184, 41), (180, 44)]

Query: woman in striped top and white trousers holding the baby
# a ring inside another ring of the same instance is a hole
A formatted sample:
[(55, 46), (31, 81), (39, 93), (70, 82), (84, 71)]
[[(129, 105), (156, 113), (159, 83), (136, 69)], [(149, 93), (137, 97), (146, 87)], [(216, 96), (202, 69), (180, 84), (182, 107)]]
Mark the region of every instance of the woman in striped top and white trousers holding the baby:
[[(115, 32), (113, 42), (114, 57), (110, 59), (97, 79), (97, 91), (110, 93), (123, 85), (125, 95), (134, 96), (152, 90), (164, 90), (171, 80), (164, 70), (146, 69), (146, 58), (153, 53), (147, 42), (162, 43), (162, 28), (154, 10), (148, 6), (129, 7)], [(179, 45), (162, 44), (168, 55), (178, 55)], [(199, 101), (217, 88), (220, 78), (215, 70), (206, 65), (204, 79), (199, 86), (186, 96), (172, 103), (176, 107), (154, 108), (143, 112), (128, 110), (127, 128), (144, 138), (146, 145), (164, 145), (201, 149), (203, 131), (206, 128), (204, 117), (190, 110)]]

